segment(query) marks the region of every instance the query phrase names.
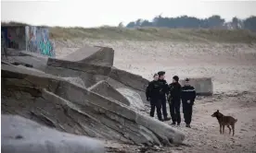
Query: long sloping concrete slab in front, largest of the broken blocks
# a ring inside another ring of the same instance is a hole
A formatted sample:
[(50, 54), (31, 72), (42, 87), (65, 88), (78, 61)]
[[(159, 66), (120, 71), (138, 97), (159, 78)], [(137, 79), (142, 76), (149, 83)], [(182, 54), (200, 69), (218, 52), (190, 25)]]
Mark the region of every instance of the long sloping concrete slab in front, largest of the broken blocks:
[[(19, 113), (69, 133), (134, 144), (168, 146), (185, 139), (183, 133), (168, 124), (60, 77), (39, 76), (38, 72), (14, 65), (1, 68), (3, 112)], [(49, 88), (51, 85), (54, 86)]]

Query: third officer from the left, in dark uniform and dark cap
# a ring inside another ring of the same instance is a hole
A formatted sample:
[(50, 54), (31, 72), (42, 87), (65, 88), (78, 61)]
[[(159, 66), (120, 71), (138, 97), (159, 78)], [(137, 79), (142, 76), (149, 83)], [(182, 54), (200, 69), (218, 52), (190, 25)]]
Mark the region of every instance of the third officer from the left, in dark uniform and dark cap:
[(168, 101), (170, 105), (170, 113), (173, 120), (173, 125), (181, 124), (181, 85), (179, 84), (179, 77), (173, 76), (173, 83), (169, 85)]

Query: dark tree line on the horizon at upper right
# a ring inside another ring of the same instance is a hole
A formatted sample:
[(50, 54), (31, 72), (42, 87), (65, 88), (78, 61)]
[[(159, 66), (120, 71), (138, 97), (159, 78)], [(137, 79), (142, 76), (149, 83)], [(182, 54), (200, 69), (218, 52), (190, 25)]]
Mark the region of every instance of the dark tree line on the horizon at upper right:
[[(120, 24), (122, 25), (122, 23)], [(126, 28), (135, 27), (156, 27), (156, 28), (178, 28), (178, 29), (250, 29), (256, 31), (256, 16), (249, 18), (232, 18), (232, 21), (226, 21), (218, 15), (209, 18), (196, 18), (188, 16), (180, 16), (176, 18), (168, 18), (157, 16), (151, 21), (147, 19), (137, 19), (126, 25)]]

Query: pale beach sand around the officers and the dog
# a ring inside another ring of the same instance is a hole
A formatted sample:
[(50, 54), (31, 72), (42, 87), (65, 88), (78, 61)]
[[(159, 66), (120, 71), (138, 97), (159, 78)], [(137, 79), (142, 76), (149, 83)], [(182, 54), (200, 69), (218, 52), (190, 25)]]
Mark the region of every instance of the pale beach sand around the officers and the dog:
[[(214, 95), (198, 97), (192, 128), (183, 123), (184, 145), (160, 147), (151, 152), (255, 152), (256, 151), (256, 44), (194, 43), (173, 41), (55, 41), (58, 57), (72, 53), (84, 44), (103, 45), (115, 50), (114, 66), (151, 79), (153, 73), (166, 71), (166, 80), (174, 75), (211, 76)], [(238, 119), (235, 136), (219, 134), (219, 125), (211, 113), (220, 110)], [(149, 107), (147, 106), (147, 113)], [(183, 114), (182, 114), (183, 115)], [(182, 117), (183, 118), (183, 117)], [(183, 121), (183, 120), (182, 120)], [(166, 124), (171, 124), (166, 122)], [(106, 141), (109, 152), (134, 152), (141, 147)], [(110, 148), (111, 147), (111, 148)], [(163, 150), (162, 150), (163, 149)]]

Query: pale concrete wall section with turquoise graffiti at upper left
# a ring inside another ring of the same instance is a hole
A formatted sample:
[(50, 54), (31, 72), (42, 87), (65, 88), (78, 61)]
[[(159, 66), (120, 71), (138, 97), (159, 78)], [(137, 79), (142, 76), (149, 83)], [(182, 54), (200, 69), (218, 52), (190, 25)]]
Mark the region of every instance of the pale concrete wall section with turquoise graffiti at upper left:
[(49, 40), (49, 30), (39, 27), (26, 27), (27, 50), (55, 57), (53, 43)]

